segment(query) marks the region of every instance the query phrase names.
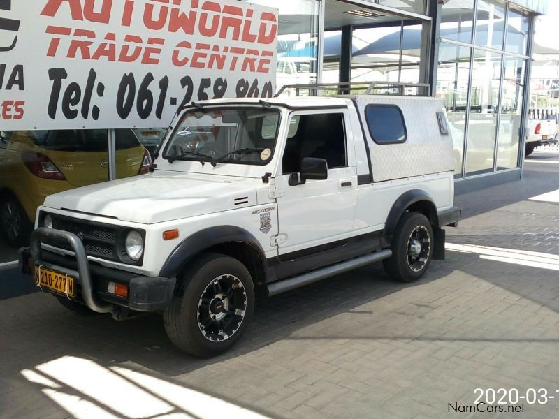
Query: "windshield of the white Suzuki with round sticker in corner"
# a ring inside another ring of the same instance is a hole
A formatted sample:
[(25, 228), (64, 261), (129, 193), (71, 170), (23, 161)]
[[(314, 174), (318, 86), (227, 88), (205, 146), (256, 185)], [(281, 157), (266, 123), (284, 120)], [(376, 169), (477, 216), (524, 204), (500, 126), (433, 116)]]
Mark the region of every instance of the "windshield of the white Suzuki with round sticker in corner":
[(184, 114), (164, 159), (266, 165), (272, 159), (279, 110), (200, 109)]

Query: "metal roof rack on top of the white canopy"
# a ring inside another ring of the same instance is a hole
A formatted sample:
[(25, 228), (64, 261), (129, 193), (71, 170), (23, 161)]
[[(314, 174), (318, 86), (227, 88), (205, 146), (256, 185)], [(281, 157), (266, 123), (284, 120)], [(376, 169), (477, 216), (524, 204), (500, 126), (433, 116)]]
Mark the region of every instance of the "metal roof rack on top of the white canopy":
[[(400, 82), (337, 82), (319, 84), (287, 84), (275, 94), (294, 89), (296, 96), (343, 96), (349, 94), (388, 94), (395, 96), (430, 96), (431, 87), (426, 83)], [(302, 94), (306, 91), (307, 94)], [(377, 93), (380, 91), (379, 93)]]

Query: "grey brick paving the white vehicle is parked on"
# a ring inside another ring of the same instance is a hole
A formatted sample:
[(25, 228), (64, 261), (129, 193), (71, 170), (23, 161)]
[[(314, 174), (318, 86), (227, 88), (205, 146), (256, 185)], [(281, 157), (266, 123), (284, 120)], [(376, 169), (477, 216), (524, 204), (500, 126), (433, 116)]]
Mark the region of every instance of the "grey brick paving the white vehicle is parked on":
[[(557, 255), (559, 205), (528, 198), (559, 189), (558, 163), (536, 152), (522, 182), (459, 196), (468, 218), (447, 241)], [(201, 417), (180, 396), (194, 389), (273, 418), (556, 418), (558, 355), (559, 271), (476, 253), (449, 251), (416, 284), (372, 265), (260, 302), (241, 344), (212, 360), (176, 351), (157, 316), (80, 318), (37, 293), (0, 302), (0, 417), (132, 418), (127, 409), (150, 397)], [(82, 374), (83, 360), (103, 374)], [(88, 390), (124, 380), (120, 369), (143, 374), (123, 383), (145, 396)], [(476, 388), (556, 399), (523, 413), (449, 413), (473, 404)]]

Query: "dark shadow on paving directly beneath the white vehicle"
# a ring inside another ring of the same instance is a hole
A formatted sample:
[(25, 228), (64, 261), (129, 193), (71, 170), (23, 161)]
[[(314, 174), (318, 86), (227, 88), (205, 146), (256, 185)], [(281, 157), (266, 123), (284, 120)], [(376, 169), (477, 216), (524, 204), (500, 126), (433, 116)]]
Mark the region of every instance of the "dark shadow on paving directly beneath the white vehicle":
[[(14, 341), (23, 339), (41, 342), (42, 347), (48, 348), (45, 355), (37, 351), (32, 355), (32, 360), (22, 359), (21, 367), (63, 355), (87, 355), (101, 362), (101, 365), (131, 361), (162, 374), (177, 376), (256, 351), (307, 325), (356, 309), (403, 288), (423, 285), (449, 274), (450, 267), (443, 267), (440, 263), (434, 265), (438, 265), (437, 269), (430, 270), (424, 279), (414, 284), (392, 281), (384, 273), (382, 265), (375, 264), (275, 297), (263, 298), (257, 302), (252, 321), (240, 343), (225, 355), (210, 360), (191, 358), (178, 351), (168, 340), (162, 318), (157, 314), (122, 322), (114, 321), (110, 315), (104, 314), (76, 316), (61, 307), (55, 297), (43, 293), (32, 297), (39, 304), (38, 307), (29, 308), (29, 312), (13, 313), (13, 318), (8, 319), (8, 328), (4, 324), (1, 332), (8, 339), (13, 337)], [(25, 303), (20, 298), (4, 301), (3, 312), (6, 312), (6, 307), (9, 309), (8, 304), (14, 308), (22, 307)], [(37, 323), (32, 328), (29, 328), (29, 318), (26, 316), (36, 318)], [(28, 325), (26, 330), (17, 326), (17, 318), (20, 317)], [(6, 343), (9, 344), (9, 341), (6, 340)], [(16, 348), (13, 348), (13, 353), (4, 351), (5, 356), (17, 357)]]

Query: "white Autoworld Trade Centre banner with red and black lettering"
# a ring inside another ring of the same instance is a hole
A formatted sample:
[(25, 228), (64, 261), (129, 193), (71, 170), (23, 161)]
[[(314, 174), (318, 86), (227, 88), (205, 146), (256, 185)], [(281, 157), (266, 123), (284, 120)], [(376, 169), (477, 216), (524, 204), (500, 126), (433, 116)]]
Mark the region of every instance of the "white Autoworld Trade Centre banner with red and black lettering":
[(235, 0), (0, 0), (0, 129), (168, 126), (275, 92), (277, 10)]

